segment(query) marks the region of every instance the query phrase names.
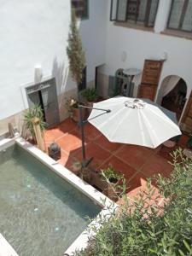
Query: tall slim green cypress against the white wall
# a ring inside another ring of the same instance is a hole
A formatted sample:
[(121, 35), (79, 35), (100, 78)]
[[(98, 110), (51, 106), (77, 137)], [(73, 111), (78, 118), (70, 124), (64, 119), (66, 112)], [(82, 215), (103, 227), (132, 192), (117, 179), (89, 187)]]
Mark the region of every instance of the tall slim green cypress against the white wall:
[(80, 84), (83, 79), (85, 56), (79, 30), (77, 27), (77, 19), (74, 9), (72, 9), (72, 20), (70, 25), (70, 32), (68, 35), (67, 55), (72, 77), (77, 82), (77, 84)]

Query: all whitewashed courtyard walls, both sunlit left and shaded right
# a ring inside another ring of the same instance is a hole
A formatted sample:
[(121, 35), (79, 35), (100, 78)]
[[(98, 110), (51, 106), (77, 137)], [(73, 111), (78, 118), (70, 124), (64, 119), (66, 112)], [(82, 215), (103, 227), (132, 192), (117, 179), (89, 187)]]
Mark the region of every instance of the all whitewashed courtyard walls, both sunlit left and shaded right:
[[(95, 79), (96, 66), (106, 63), (100, 72), (108, 76), (120, 67), (143, 69), (144, 59), (160, 59), (166, 52), (160, 82), (171, 74), (180, 76), (189, 96), (192, 40), (160, 34), (171, 0), (160, 0), (154, 32), (114, 26), (109, 21), (110, 2), (90, 0), (90, 17), (79, 22), (88, 83)], [(43, 67), (44, 78), (56, 76), (59, 95), (75, 88), (66, 55), (69, 22), (70, 0), (0, 0), (0, 120), (26, 108), (20, 87), (33, 83), (37, 63)], [(122, 61), (124, 51), (127, 58)]]

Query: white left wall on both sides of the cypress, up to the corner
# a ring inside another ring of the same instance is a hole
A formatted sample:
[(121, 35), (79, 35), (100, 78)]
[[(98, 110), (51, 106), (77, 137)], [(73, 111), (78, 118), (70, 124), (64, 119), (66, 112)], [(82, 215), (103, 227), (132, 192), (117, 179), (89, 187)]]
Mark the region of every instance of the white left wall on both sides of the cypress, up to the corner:
[[(87, 58), (88, 82), (105, 61), (107, 2), (90, 0), (90, 18), (79, 24)], [(66, 55), (70, 0), (0, 0), (0, 119), (25, 106), (20, 87), (34, 82), (40, 63), (44, 78), (56, 76), (57, 91), (75, 87)]]

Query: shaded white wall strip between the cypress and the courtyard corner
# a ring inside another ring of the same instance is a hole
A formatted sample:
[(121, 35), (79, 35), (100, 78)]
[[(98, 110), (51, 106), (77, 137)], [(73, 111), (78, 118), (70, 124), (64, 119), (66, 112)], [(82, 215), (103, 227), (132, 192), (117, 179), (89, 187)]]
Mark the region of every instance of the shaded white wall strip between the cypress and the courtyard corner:
[(90, 18), (79, 25), (88, 64), (88, 81), (95, 79), (95, 67), (106, 61), (107, 21), (108, 0), (90, 0)]

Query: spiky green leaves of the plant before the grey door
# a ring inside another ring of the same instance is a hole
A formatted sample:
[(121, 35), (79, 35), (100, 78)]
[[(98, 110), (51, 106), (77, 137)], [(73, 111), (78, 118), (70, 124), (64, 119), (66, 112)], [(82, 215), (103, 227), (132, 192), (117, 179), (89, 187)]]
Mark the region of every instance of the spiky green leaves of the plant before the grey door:
[(30, 131), (33, 139), (35, 139), (35, 133), (33, 130), (32, 119), (35, 117), (39, 119), (39, 125), (41, 128), (41, 131), (44, 131), (46, 127), (46, 123), (44, 122), (44, 113), (42, 111), (41, 106), (39, 106), (38, 104), (34, 105), (32, 108), (29, 108), (24, 114), (24, 123), (25, 123), (26, 129)]

